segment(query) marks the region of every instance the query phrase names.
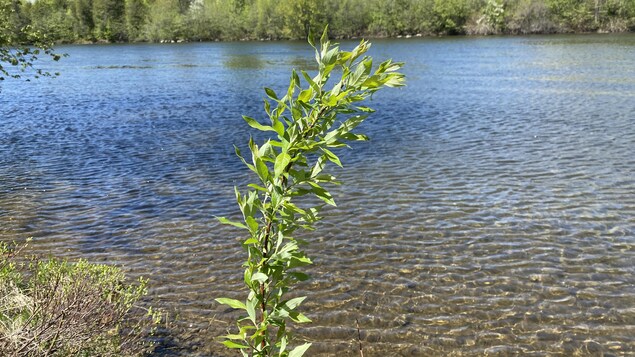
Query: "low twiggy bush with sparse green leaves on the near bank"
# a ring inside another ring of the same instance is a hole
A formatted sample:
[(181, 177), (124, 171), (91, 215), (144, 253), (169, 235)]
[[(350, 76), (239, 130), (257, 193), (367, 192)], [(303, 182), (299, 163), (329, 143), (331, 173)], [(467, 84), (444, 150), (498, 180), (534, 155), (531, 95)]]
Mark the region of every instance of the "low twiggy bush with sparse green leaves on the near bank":
[(113, 266), (25, 259), (0, 242), (0, 355), (139, 356), (161, 315)]

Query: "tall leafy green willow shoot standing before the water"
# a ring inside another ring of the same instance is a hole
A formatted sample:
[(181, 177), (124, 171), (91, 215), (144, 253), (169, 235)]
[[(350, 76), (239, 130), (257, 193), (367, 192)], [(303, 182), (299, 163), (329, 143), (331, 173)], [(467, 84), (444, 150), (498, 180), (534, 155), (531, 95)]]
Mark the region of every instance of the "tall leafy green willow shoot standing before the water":
[[(311, 77), (293, 71), (291, 83), (283, 97), (265, 88), (269, 99), (265, 111), (271, 124), (261, 124), (253, 118), (243, 118), (254, 129), (272, 132), (264, 144), (249, 140), (251, 158), (245, 158), (236, 147), (236, 154), (253, 171), (258, 183), (249, 184), (246, 194), (236, 191), (236, 200), (244, 222), (219, 218), (220, 222), (245, 229), (249, 236), (242, 242), (248, 253), (244, 280), (249, 288), (246, 301), (216, 299), (221, 304), (244, 310), (238, 319), (238, 332), (223, 336), (223, 344), (239, 349), (243, 356), (302, 356), (311, 345), (306, 343), (288, 350), (290, 334), (287, 323), (310, 322), (298, 311), (306, 297), (289, 299), (287, 293), (308, 275), (296, 268), (311, 264), (300, 249), (303, 243), (295, 238), (299, 230), (313, 230), (325, 205), (335, 206), (325, 184), (337, 184), (333, 175), (325, 173), (328, 162), (342, 166), (333, 149), (347, 147), (346, 142), (368, 140), (353, 133), (371, 108), (359, 105), (382, 87), (404, 85), (404, 75), (397, 71), (402, 63), (391, 60), (373, 71), (372, 58), (365, 56), (370, 43), (361, 43), (350, 52), (331, 44), (324, 31), (320, 48), (315, 48), (319, 72)], [(329, 80), (337, 83), (327, 89)], [(324, 201), (309, 199), (317, 197)], [(304, 197), (303, 205), (296, 201)], [(316, 204), (320, 202), (320, 204)]]

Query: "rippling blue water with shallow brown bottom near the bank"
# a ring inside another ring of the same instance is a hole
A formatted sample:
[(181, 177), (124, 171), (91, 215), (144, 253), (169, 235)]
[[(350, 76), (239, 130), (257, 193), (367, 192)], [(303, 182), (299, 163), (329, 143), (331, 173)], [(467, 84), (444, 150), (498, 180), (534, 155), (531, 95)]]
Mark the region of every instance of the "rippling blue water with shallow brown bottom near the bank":
[[(344, 47), (354, 43), (345, 42)], [(158, 355), (230, 355), (232, 144), (303, 42), (95, 45), (0, 83), (0, 238), (118, 264), (170, 315)], [(310, 355), (635, 353), (635, 36), (377, 40), (378, 93), (307, 235)]]

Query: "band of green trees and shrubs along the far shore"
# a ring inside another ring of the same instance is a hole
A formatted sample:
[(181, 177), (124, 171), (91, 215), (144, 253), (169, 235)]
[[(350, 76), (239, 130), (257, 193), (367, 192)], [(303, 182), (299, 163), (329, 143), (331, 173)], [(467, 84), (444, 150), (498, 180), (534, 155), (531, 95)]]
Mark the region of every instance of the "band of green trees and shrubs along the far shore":
[[(635, 0), (0, 0), (60, 42), (632, 31)], [(2, 11), (2, 10), (0, 10)]]

